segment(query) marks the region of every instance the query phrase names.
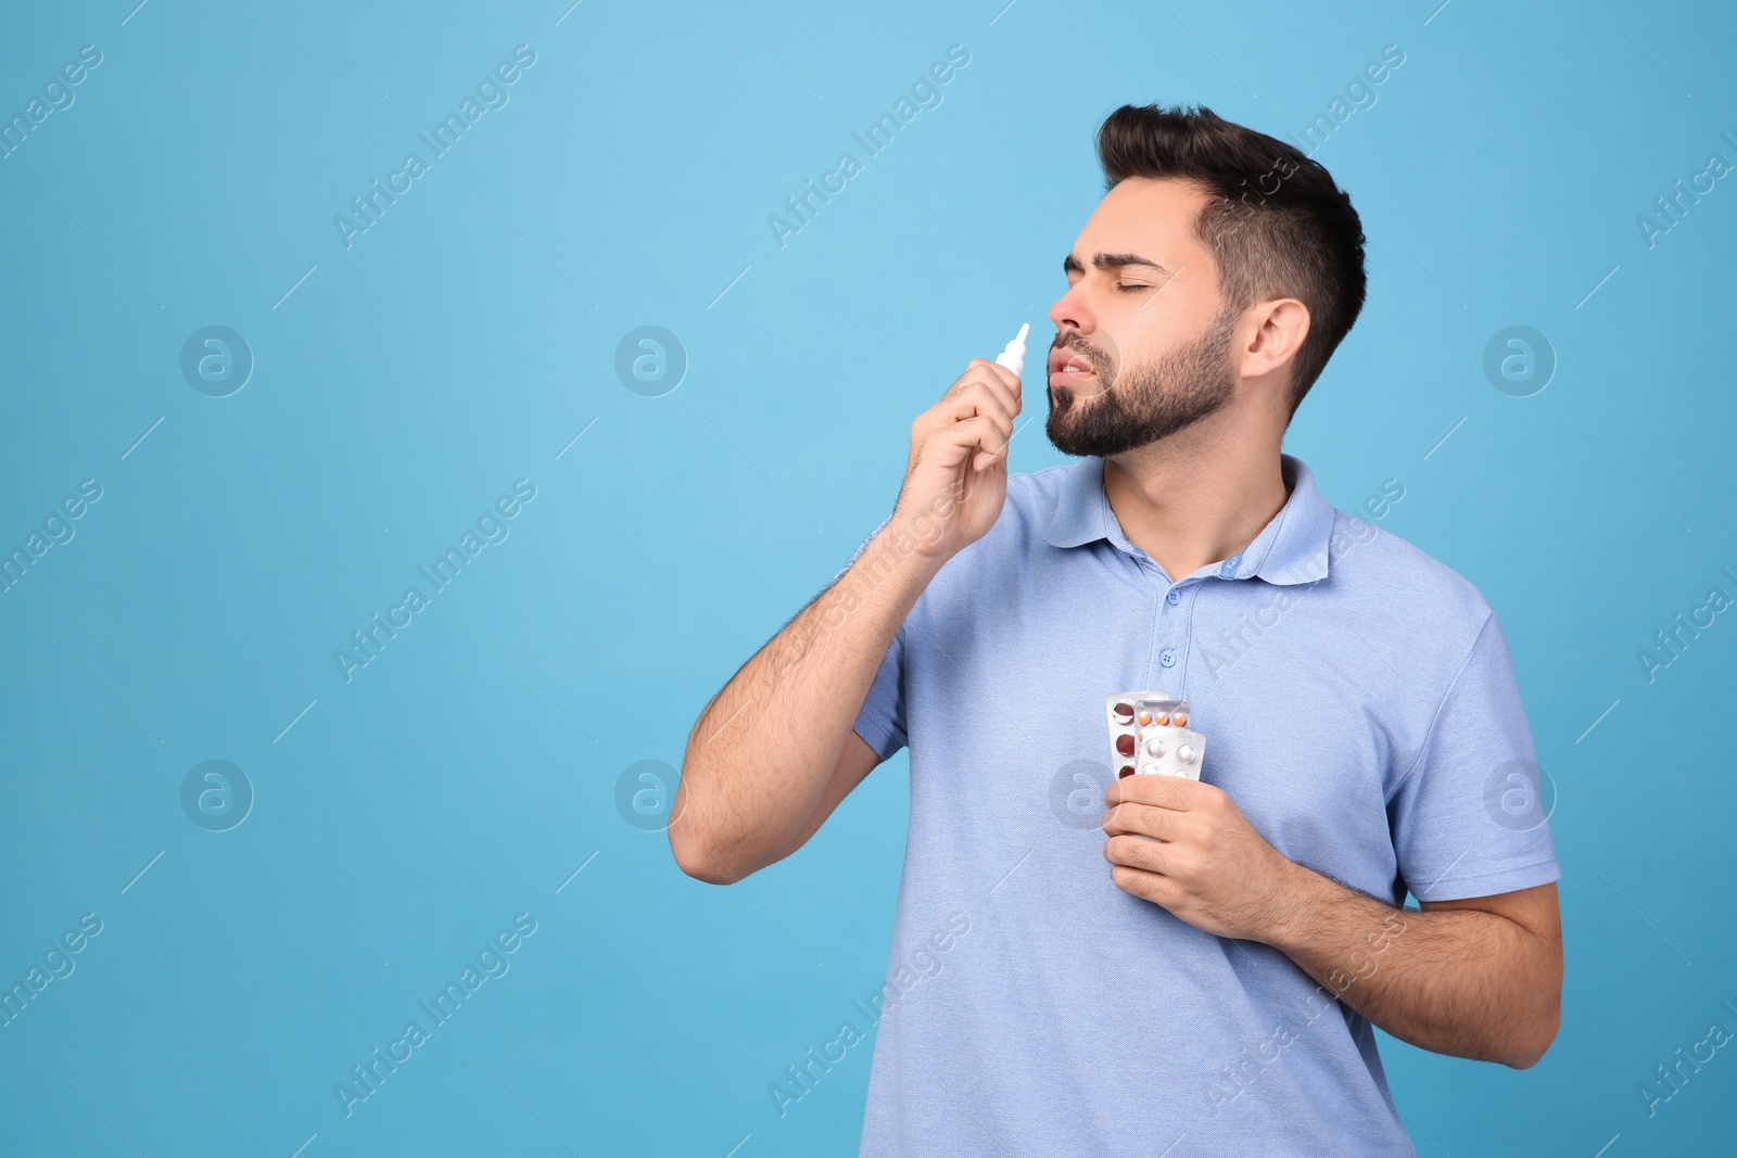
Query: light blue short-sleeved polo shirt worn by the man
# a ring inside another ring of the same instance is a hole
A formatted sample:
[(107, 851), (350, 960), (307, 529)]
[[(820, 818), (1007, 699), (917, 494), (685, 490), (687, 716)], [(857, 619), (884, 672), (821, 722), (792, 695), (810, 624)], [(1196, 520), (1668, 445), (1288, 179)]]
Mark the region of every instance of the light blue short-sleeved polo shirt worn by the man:
[(1562, 875), (1489, 602), (1282, 464), (1271, 523), (1176, 582), (1101, 458), (1013, 474), (905, 618), (855, 724), (910, 748), (863, 1155), (1414, 1153), (1369, 1021), (1103, 859), (1105, 696), (1162, 688), (1202, 780), (1341, 884), (1398, 905)]

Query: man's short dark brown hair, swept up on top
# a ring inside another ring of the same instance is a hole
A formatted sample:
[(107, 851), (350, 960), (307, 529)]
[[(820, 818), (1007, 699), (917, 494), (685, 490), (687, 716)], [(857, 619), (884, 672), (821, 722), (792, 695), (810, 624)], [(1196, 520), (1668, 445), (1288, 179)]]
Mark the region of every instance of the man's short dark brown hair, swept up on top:
[[(1364, 309), (1364, 226), (1332, 175), (1294, 146), (1202, 106), (1124, 104), (1098, 128), (1105, 191), (1127, 177), (1192, 181), (1212, 198), (1195, 238), (1225, 306), (1294, 297), (1310, 330), (1291, 363), (1291, 415)], [(1289, 417), (1287, 415), (1287, 422)]]

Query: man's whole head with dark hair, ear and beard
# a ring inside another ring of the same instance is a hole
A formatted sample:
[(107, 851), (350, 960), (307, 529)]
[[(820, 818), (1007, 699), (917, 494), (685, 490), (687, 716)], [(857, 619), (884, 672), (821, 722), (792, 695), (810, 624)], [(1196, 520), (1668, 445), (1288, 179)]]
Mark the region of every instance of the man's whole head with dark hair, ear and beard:
[(1115, 455), (1228, 406), (1282, 432), (1364, 306), (1350, 198), (1292, 146), (1204, 108), (1122, 106), (1098, 160), (1106, 194), (1049, 309), (1049, 439)]

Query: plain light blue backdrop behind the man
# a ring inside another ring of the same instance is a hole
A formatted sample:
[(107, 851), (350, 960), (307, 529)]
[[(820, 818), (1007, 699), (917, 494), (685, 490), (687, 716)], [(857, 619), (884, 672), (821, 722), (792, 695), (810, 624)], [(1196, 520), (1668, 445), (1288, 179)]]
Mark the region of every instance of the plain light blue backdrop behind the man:
[[(0, 1149), (855, 1153), (867, 1043), (783, 1118), (766, 1087), (884, 979), (905, 757), (730, 889), (617, 780), (679, 764), (964, 363), (1020, 321), (1044, 349), (1105, 113), (1296, 134), (1388, 43), (1315, 153), (1369, 306), (1285, 446), (1341, 509), (1400, 479), (1383, 526), (1497, 608), (1567, 939), (1537, 1068), (1386, 1038), (1393, 1092), (1424, 1155), (1730, 1146), (1728, 1049), (1652, 1118), (1638, 1087), (1737, 1028), (1737, 625), (1636, 660), (1737, 594), (1737, 179), (1636, 226), (1737, 161), (1727, 5), (132, 2), (0, 35), (5, 116), (104, 57), (0, 160), (0, 547), (102, 486), (0, 595), (0, 981), (104, 922), (0, 1030)], [(511, 102), (346, 250), (332, 217), (519, 43)], [(766, 217), (954, 43), (941, 106), (780, 248)], [(257, 359), (229, 398), (181, 377), (207, 325)], [(662, 398), (613, 370), (639, 325), (690, 358)], [(1509, 325), (1560, 359), (1532, 398), (1482, 370)], [(511, 536), (346, 684), (334, 649), (519, 477)], [(257, 793), (229, 832), (181, 809), (207, 759)], [(511, 972), (346, 1118), (334, 1083), (521, 911)]]

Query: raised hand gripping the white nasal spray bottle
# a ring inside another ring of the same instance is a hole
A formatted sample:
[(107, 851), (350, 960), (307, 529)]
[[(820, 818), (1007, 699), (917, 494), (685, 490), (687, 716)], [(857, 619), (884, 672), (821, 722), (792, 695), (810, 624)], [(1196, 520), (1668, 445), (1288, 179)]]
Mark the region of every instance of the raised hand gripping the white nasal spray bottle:
[(980, 540), (1007, 500), (1007, 441), (1020, 375), (973, 358), (941, 401), (910, 424), (910, 460), (893, 523), (917, 554), (948, 559)]

